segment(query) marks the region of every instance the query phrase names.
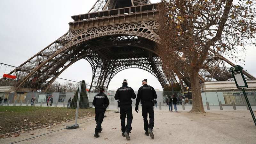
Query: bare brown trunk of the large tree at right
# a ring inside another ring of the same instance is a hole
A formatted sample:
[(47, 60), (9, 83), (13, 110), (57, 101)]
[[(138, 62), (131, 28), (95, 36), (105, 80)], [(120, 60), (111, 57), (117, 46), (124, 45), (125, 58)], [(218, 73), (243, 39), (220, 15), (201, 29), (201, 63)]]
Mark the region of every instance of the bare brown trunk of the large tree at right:
[(205, 113), (201, 96), (198, 71), (199, 70), (197, 69), (192, 69), (189, 73), (193, 99), (192, 109), (189, 111), (189, 113)]

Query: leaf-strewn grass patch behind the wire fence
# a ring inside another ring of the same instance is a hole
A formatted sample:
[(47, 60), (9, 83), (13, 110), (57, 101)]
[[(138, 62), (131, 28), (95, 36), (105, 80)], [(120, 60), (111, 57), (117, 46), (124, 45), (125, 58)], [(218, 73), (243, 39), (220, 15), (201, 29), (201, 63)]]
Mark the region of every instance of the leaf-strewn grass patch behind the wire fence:
[[(94, 108), (79, 109), (78, 117), (90, 117)], [(0, 106), (0, 134), (73, 119), (76, 109), (59, 107)]]

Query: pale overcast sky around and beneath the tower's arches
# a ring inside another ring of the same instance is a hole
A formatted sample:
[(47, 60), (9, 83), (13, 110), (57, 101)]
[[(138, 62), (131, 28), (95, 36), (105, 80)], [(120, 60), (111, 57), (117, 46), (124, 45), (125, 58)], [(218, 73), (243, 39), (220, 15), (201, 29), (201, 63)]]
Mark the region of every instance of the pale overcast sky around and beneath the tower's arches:
[[(0, 62), (19, 66), (68, 31), (71, 15), (87, 13), (96, 0), (0, 0)], [(152, 3), (160, 0), (151, 0)], [(256, 76), (255, 47), (248, 47), (245, 70)], [(240, 64), (241, 63), (236, 63)], [(86, 60), (77, 61), (59, 77), (91, 83), (92, 68)], [(114, 76), (108, 90), (117, 89), (124, 78), (135, 91), (144, 78), (162, 90), (158, 80), (141, 69), (126, 69)]]

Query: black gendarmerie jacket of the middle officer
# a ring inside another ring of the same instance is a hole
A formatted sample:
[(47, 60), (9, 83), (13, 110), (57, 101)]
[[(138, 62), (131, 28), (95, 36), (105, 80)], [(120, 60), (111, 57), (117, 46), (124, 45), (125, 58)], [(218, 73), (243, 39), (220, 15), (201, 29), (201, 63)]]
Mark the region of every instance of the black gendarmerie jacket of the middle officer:
[(115, 99), (119, 100), (120, 105), (131, 105), (132, 99), (136, 98), (136, 94), (134, 93), (133, 89), (127, 84), (123, 84), (122, 87), (117, 89), (115, 94)]

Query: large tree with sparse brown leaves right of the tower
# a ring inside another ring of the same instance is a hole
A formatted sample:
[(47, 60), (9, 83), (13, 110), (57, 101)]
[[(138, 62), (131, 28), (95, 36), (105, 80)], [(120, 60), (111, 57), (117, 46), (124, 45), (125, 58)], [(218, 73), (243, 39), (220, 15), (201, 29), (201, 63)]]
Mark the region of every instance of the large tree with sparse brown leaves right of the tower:
[(255, 0), (162, 0), (158, 53), (165, 72), (189, 76), (190, 113), (205, 113), (198, 74), (205, 60), (213, 53), (237, 59), (234, 52), (255, 44), (255, 5)]

